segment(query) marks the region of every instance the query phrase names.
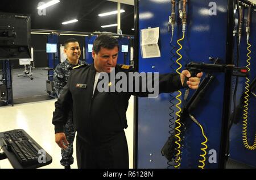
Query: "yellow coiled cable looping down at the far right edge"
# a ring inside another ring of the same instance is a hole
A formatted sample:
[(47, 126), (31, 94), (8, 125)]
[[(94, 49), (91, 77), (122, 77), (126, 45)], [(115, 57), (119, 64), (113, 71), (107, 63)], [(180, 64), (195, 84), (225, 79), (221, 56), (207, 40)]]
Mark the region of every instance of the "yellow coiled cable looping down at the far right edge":
[[(251, 47), (251, 44), (249, 44), (249, 41), (247, 41), (247, 45), (248, 45), (248, 47), (247, 47), (247, 50), (248, 50), (248, 53), (247, 53), (247, 60), (246, 60), (246, 62), (247, 62), (247, 65), (246, 65), (246, 68), (248, 68), (248, 72), (250, 72), (250, 68), (249, 68), (249, 66), (250, 66), (250, 59), (251, 59), (251, 57), (249, 56), (250, 55), (250, 53), (251, 53), (251, 51), (250, 51), (250, 47)], [(243, 137), (243, 145), (245, 146), (245, 148), (246, 149), (249, 149), (249, 150), (254, 150), (254, 149), (256, 149), (256, 133), (255, 133), (255, 139), (254, 139), (254, 143), (253, 143), (253, 145), (249, 145), (249, 143), (248, 143), (248, 139), (247, 139), (247, 118), (248, 118), (248, 116), (247, 116), (247, 114), (248, 114), (248, 112), (247, 112), (247, 110), (248, 110), (248, 101), (249, 101), (249, 99), (248, 99), (248, 97), (249, 97), (249, 82), (250, 82), (250, 79), (249, 78), (247, 78), (246, 77), (246, 82), (245, 82), (245, 101), (244, 101), (244, 103), (245, 103), (245, 106), (243, 106), (244, 108), (243, 108), (243, 133), (242, 133), (242, 137)]]

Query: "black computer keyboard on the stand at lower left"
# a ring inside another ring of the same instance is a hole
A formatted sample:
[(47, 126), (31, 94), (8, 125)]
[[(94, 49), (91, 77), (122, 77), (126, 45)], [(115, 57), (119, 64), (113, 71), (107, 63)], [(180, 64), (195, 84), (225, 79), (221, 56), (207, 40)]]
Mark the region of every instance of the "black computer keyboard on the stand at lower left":
[(9, 145), (8, 149), (13, 151), (20, 164), (26, 166), (39, 163), (39, 148), (23, 131), (7, 131), (4, 133), (4, 139)]

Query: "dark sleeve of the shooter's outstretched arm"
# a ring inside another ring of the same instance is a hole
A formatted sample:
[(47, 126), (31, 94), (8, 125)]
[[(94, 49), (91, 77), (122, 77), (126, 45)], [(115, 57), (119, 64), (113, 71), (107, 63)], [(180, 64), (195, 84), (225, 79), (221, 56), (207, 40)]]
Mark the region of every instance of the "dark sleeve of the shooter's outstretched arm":
[[(128, 72), (134, 73), (134, 69), (130, 66), (130, 68), (127, 70)], [(146, 77), (148, 77), (148, 74), (146, 73)], [(152, 85), (154, 90), (158, 90), (158, 94), (160, 93), (172, 93), (174, 91), (183, 89), (183, 85), (180, 80), (180, 75), (177, 73), (167, 73), (167, 74), (159, 74), (159, 82), (157, 83), (154, 79), (154, 73), (152, 73), (152, 78), (147, 78), (147, 83), (146, 86), (148, 86), (148, 83)], [(139, 91), (135, 90), (135, 81), (139, 81), (139, 86), (141, 87)], [(140, 78), (138, 80), (133, 78), (129, 79), (129, 86), (133, 83), (133, 93), (132, 95), (139, 96), (139, 97), (148, 97), (152, 93), (152, 91), (148, 91), (146, 87), (146, 92), (142, 90), (142, 87), (145, 86), (144, 83), (142, 82), (142, 79)]]

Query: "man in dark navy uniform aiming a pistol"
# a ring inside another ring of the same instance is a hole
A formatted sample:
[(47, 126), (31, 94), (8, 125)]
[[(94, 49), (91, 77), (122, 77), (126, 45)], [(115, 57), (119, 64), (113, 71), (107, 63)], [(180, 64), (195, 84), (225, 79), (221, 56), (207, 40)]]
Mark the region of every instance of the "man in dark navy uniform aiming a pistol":
[[(77, 165), (79, 168), (129, 168), (129, 155), (124, 128), (127, 128), (126, 110), (131, 95), (145, 97), (148, 91), (99, 90), (100, 76), (115, 70), (115, 74), (134, 72), (128, 65), (117, 65), (118, 41), (111, 35), (101, 34), (93, 43), (92, 65), (73, 68), (67, 85), (55, 103), (52, 123), (55, 125), (55, 141), (60, 148), (67, 148), (68, 141), (63, 131), (67, 122), (67, 110), (73, 107), (73, 124), (77, 131)], [(183, 88), (188, 70), (159, 75), (159, 93), (170, 93)], [(197, 89), (202, 73), (187, 81), (191, 89)], [(120, 80), (120, 79), (119, 79)], [(114, 82), (117, 82), (114, 79)], [(127, 89), (135, 79), (129, 79)], [(154, 79), (152, 80), (154, 81)], [(109, 87), (114, 86), (109, 81)], [(142, 81), (141, 81), (142, 83)]]

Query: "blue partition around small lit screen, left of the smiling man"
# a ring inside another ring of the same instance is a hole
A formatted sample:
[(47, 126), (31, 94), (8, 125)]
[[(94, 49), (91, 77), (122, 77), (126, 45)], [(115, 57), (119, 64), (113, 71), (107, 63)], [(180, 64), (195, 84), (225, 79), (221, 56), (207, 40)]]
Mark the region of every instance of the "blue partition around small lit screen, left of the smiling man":
[[(57, 53), (47, 53), (48, 56), (48, 68), (55, 69), (56, 65), (60, 63), (59, 57), (59, 36), (58, 35), (49, 35), (47, 43), (57, 44)], [(53, 70), (48, 71), (48, 79), (53, 81)]]

